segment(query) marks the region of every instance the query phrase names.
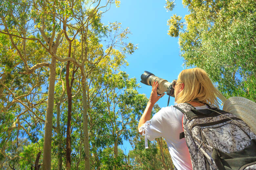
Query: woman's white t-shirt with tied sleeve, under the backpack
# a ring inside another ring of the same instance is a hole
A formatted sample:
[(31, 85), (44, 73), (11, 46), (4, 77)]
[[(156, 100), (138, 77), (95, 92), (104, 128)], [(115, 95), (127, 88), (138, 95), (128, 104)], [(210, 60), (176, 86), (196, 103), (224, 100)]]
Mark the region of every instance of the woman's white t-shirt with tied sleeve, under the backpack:
[[(204, 105), (195, 108), (205, 109), (208, 106)], [(167, 143), (174, 166), (178, 170), (192, 170), (185, 138), (180, 139), (180, 133), (183, 132), (182, 117), (183, 113), (173, 106), (162, 108), (151, 120), (146, 121), (139, 127), (139, 132), (143, 130), (145, 148), (148, 147), (147, 139), (153, 141), (155, 138), (163, 137)]]

